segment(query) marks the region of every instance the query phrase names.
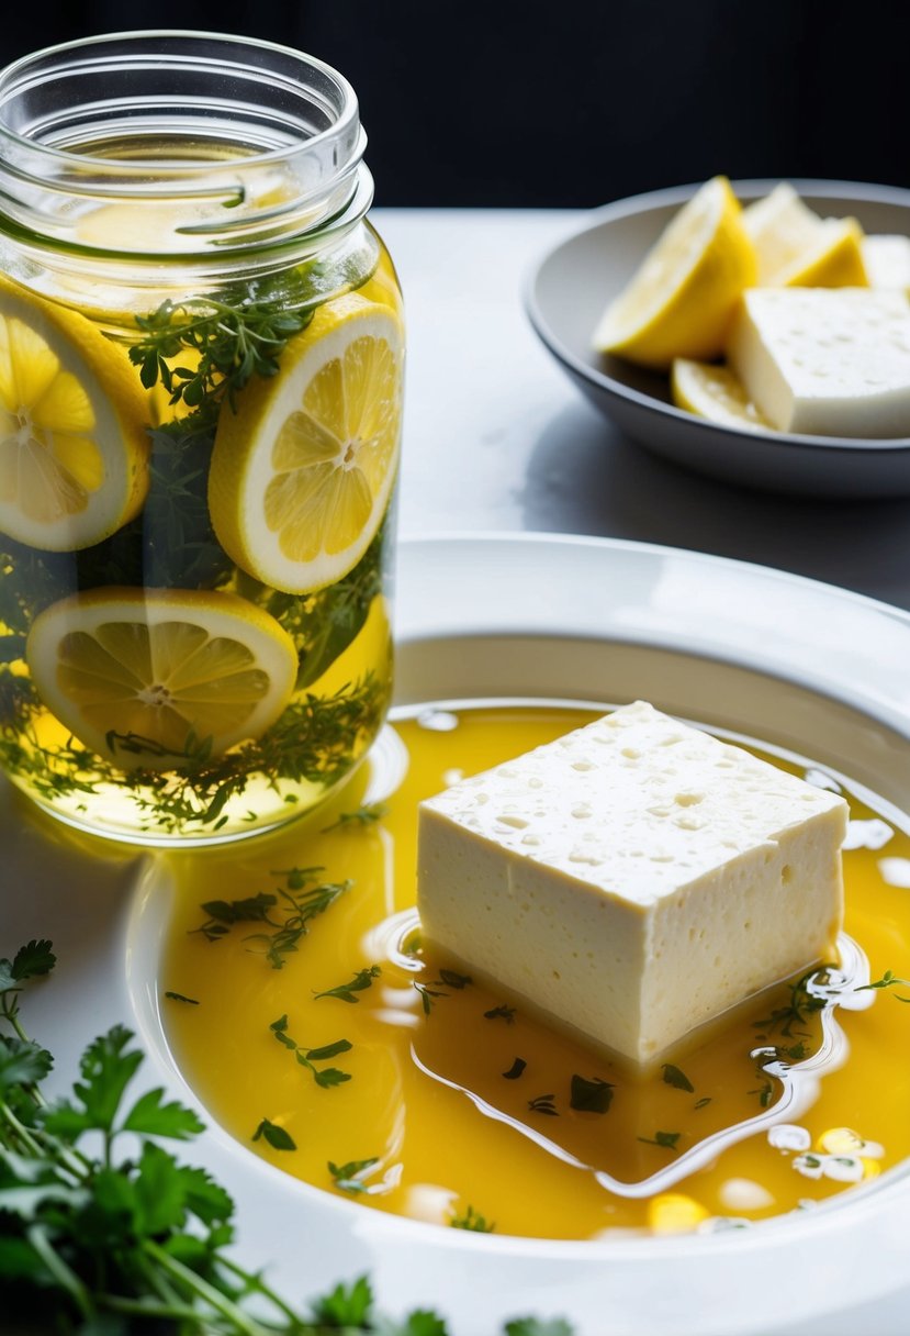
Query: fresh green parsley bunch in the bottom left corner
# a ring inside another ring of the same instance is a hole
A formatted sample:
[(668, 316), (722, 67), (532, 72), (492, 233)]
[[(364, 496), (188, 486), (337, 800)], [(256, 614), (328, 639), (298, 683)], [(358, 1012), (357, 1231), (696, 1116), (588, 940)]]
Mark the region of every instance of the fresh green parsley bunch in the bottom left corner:
[[(160, 1144), (203, 1125), (161, 1089), (137, 1097), (143, 1054), (116, 1025), (85, 1049), (68, 1097), (48, 1102), (53, 1058), (19, 999), (55, 966), (49, 942), (0, 959), (0, 1332), (3, 1336), (447, 1336), (436, 1313), (374, 1311), (366, 1277), (300, 1313), (225, 1252), (234, 1202)], [(571, 1336), (518, 1319), (506, 1336)]]

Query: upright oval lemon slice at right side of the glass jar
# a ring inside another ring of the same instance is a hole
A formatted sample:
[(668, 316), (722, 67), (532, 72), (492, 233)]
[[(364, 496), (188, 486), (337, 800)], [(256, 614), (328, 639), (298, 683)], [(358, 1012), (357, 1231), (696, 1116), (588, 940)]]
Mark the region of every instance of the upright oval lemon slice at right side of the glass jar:
[(403, 347), (388, 306), (348, 294), (288, 342), (274, 379), (221, 413), (208, 502), (248, 574), (304, 593), (367, 550), (398, 465)]

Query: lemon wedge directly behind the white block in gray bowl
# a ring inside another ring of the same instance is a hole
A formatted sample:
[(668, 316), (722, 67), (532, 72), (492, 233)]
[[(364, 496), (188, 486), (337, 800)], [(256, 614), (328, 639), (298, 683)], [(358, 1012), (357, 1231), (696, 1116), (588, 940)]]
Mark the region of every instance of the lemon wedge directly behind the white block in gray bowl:
[(855, 218), (819, 218), (789, 182), (743, 210), (761, 287), (867, 287)]

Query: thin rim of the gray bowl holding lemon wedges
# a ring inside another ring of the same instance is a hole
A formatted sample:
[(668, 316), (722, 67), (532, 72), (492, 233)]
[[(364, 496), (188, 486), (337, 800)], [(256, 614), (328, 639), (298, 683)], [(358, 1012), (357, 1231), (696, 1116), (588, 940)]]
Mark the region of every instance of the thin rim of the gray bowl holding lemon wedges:
[[(910, 188), (905, 188), (902, 186), (877, 186), (865, 182), (833, 180), (827, 178), (814, 179), (803, 176), (737, 178), (730, 179), (730, 186), (737, 195), (741, 192), (758, 195), (773, 190), (774, 186), (781, 183), (781, 180), (786, 180), (791, 184), (799, 195), (805, 194), (821, 198), (827, 195), (833, 199), (854, 199), (858, 203), (897, 204), (905, 207), (910, 215)], [(647, 413), (652, 413), (656, 417), (668, 417), (671, 421), (678, 422), (682, 426), (691, 426), (693, 418), (695, 418), (695, 425), (699, 430), (709, 429), (710, 432), (718, 433), (721, 437), (729, 437), (733, 441), (742, 441), (743, 438), (746, 441), (758, 440), (767, 442), (771, 446), (777, 446), (778, 449), (786, 448), (789, 454), (793, 453), (794, 448), (809, 453), (833, 450), (838, 454), (853, 453), (882, 456), (901, 454), (902, 452), (910, 450), (910, 436), (862, 438), (809, 436), (798, 432), (763, 432), (761, 429), (743, 430), (729, 426), (723, 422), (714, 422), (711, 418), (695, 417), (695, 414), (689, 413), (686, 409), (676, 407), (675, 403), (663, 403), (642, 390), (624, 385), (622, 381), (608, 375), (606, 371), (600, 371), (596, 367), (590, 366), (579, 358), (571, 347), (556, 337), (550, 326), (538, 294), (538, 285), (546, 266), (563, 251), (568, 250), (574, 243), (579, 242), (583, 236), (587, 236), (590, 232), (598, 231), (604, 226), (610, 226), (619, 219), (639, 214), (648, 214), (655, 208), (666, 208), (668, 206), (679, 208), (703, 184), (703, 182), (695, 182), (683, 186), (668, 186), (659, 190), (642, 191), (638, 195), (627, 195), (623, 199), (600, 204), (588, 211), (588, 220), (584, 226), (575, 227), (574, 231), (563, 236), (555, 244), (551, 244), (531, 263), (522, 283), (522, 305), (534, 333), (544, 347), (552, 357), (556, 358), (558, 362), (562, 363), (564, 370), (579, 379), (586, 381), (588, 385), (614, 395), (615, 398), (634, 403), (636, 407)]]

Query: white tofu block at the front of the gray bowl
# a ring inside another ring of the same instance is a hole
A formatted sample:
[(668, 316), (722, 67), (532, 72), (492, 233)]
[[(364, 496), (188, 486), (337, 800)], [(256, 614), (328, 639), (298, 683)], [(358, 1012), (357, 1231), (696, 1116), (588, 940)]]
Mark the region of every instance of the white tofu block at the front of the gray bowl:
[(867, 287), (747, 289), (727, 359), (782, 432), (910, 436), (910, 302)]

